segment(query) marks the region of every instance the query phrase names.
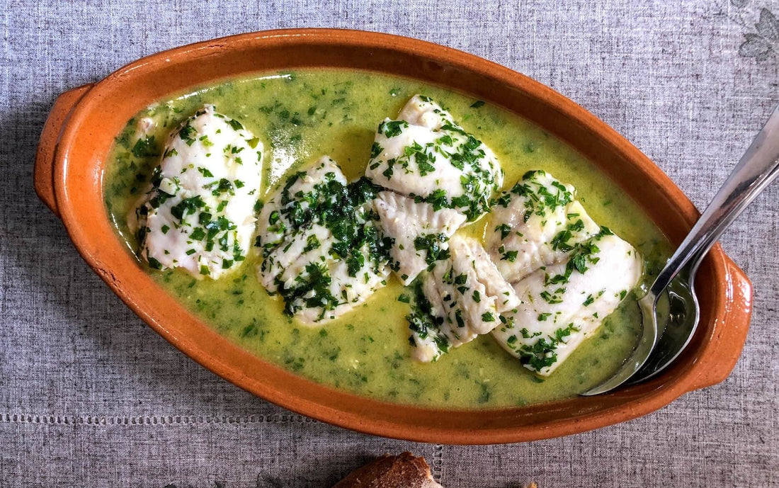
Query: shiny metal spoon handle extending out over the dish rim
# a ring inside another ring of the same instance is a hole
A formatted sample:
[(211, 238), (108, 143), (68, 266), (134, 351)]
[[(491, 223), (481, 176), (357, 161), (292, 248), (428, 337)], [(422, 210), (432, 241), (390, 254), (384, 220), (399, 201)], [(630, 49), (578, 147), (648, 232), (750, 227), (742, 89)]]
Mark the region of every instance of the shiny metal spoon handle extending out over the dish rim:
[[(650, 288), (659, 296), (679, 271), (700, 259), (755, 197), (779, 175), (779, 105)], [(693, 270), (694, 271), (694, 270)]]

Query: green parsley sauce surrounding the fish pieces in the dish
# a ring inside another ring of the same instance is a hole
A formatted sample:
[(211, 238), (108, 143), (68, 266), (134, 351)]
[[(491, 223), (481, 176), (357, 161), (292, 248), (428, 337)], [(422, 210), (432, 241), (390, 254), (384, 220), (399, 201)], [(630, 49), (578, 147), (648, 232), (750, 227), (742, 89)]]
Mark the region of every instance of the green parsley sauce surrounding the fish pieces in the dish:
[[(241, 121), (265, 145), (263, 196), (284, 175), (322, 154), (354, 179), (365, 172), (376, 126), (393, 117), (414, 94), (449, 108), (466, 130), (499, 157), (510, 188), (530, 169), (570, 182), (590, 216), (632, 243), (645, 260), (650, 282), (668, 259), (670, 245), (650, 219), (590, 161), (549, 133), (508, 111), (414, 80), (372, 72), (309, 69), (230, 80), (160, 101), (132, 118), (117, 137), (104, 175), (104, 200), (118, 234), (137, 249), (127, 225), (159, 162), (167, 133), (203, 104)], [(157, 121), (151, 144), (137, 143), (139, 118)], [(488, 218), (467, 232), (483, 239)], [(263, 359), (322, 384), (403, 404), (448, 408), (497, 408), (571, 397), (609, 377), (640, 332), (633, 294), (592, 337), (548, 378), (541, 379), (489, 335), (456, 348), (437, 362), (411, 359), (406, 291), (397, 278), (362, 306), (322, 327), (305, 327), (283, 313), (256, 278), (256, 253), (218, 281), (183, 271), (146, 269), (171, 295), (219, 334)]]

